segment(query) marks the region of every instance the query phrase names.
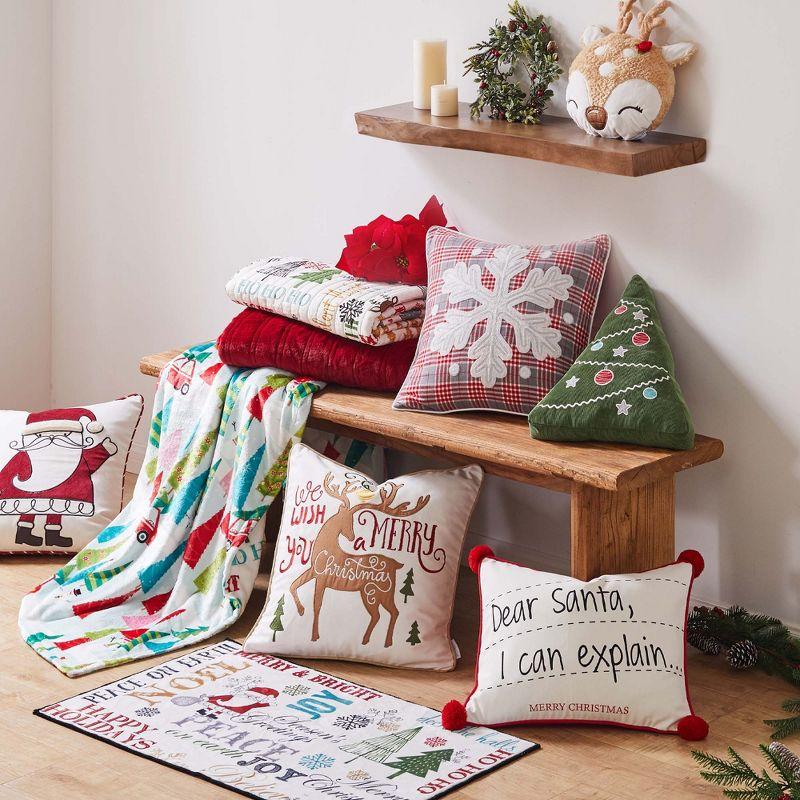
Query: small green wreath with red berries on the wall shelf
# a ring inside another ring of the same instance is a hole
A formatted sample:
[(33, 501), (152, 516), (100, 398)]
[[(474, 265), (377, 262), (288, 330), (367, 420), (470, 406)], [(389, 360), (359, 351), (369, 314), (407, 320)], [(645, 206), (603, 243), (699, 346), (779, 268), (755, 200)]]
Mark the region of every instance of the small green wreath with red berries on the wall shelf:
[(492, 119), (535, 125), (553, 96), (550, 84), (563, 71), (558, 45), (542, 15), (531, 16), (519, 0), (508, 11), (508, 22), (498, 20), (464, 61), (464, 74), (473, 73), (478, 84), (470, 113), (478, 117), (488, 109)]

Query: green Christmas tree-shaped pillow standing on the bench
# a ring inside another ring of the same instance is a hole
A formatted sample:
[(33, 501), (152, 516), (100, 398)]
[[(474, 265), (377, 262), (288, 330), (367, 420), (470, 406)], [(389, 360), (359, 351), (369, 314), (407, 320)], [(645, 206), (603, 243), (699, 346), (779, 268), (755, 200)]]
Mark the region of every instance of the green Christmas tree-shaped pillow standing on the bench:
[(634, 275), (597, 337), (528, 415), (534, 439), (688, 450), (692, 417), (653, 292)]

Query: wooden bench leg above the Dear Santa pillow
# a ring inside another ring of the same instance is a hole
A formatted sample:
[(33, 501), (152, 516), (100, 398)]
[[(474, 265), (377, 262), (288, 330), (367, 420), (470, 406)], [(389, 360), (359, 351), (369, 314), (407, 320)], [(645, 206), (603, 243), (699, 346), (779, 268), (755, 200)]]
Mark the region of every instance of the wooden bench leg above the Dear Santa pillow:
[(675, 477), (637, 489), (572, 489), (572, 576), (641, 572), (675, 558)]

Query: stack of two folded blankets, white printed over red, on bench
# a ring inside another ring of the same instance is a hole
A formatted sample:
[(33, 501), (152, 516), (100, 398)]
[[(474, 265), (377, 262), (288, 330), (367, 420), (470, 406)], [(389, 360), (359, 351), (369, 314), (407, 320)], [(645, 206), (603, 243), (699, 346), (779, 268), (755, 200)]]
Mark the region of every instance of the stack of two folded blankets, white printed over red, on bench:
[(256, 261), (226, 291), (247, 306), (217, 340), (226, 364), (372, 391), (400, 388), (425, 314), (424, 286), (369, 282), (303, 259)]

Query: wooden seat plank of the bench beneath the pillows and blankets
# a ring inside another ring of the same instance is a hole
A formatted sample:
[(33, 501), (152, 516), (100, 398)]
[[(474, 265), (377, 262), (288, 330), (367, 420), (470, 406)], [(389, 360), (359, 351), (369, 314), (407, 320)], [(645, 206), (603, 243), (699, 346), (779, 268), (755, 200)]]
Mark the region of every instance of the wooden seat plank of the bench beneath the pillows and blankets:
[[(140, 370), (157, 376), (180, 352), (146, 356)], [(390, 395), (340, 386), (330, 386), (314, 398), (309, 424), (454, 463), (478, 463), (493, 475), (567, 492), (573, 484), (615, 492), (646, 486), (714, 461), (723, 451), (719, 439), (699, 435), (694, 447), (685, 451), (542, 442), (531, 439), (524, 417), (395, 411)]]

